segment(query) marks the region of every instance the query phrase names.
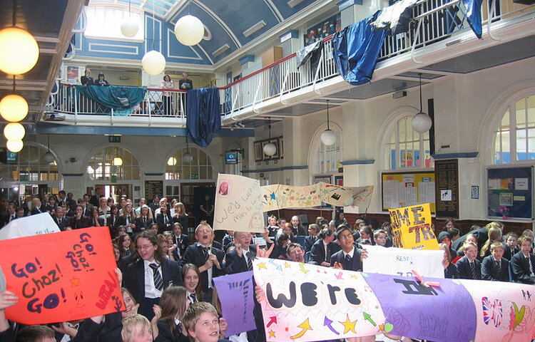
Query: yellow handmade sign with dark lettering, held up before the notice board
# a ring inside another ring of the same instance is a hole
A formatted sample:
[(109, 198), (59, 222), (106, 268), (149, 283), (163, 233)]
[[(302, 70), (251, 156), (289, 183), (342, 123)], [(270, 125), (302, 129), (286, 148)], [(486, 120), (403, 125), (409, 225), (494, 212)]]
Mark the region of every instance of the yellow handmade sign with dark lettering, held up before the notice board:
[(406, 249), (439, 249), (431, 229), (429, 203), (389, 209), (394, 247)]

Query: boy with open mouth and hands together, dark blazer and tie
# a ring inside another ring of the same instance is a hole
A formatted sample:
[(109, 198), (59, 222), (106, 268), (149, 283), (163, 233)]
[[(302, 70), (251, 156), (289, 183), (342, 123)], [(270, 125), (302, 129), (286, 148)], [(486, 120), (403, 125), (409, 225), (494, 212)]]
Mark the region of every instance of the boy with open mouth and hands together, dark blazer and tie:
[(216, 276), (223, 276), (223, 257), (220, 249), (212, 247), (213, 230), (206, 222), (201, 221), (195, 229), (196, 244), (190, 244), (185, 249), (180, 264), (194, 264), (198, 267), (200, 278), (203, 282), (203, 299), (212, 301), (213, 285), (212, 279)]

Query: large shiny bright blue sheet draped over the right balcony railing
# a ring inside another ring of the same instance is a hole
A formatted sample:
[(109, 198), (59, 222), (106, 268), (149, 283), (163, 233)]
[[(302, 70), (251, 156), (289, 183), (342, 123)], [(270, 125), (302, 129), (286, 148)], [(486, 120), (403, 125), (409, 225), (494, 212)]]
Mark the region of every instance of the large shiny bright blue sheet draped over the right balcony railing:
[(370, 82), (387, 31), (373, 31), (373, 16), (347, 26), (332, 36), (332, 56), (345, 81), (358, 86)]

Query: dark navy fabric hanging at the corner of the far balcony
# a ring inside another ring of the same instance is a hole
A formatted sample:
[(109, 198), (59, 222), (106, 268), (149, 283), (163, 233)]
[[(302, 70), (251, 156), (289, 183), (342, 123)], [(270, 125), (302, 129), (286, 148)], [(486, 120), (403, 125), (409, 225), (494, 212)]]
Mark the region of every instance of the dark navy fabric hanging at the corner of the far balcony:
[(192, 89), (186, 98), (188, 137), (200, 147), (206, 147), (221, 130), (219, 89)]

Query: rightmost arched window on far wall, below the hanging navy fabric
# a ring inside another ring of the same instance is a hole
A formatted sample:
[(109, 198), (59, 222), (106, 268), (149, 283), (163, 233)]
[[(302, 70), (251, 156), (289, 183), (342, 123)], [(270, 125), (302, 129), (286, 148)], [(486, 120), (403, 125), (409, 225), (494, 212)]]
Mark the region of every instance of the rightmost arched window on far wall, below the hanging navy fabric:
[[(191, 162), (184, 160), (184, 154), (190, 152)], [(212, 160), (206, 152), (197, 147), (182, 147), (167, 160), (165, 180), (213, 180), (215, 178)]]

